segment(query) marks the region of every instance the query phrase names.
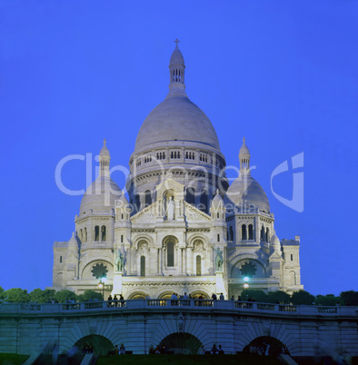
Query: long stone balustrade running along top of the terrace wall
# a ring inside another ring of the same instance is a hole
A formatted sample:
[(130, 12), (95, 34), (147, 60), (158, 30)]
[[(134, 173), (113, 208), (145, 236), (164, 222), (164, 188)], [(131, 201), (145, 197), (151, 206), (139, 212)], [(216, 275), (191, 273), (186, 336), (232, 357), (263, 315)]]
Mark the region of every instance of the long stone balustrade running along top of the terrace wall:
[(290, 313), (293, 315), (348, 315), (357, 316), (355, 307), (336, 306), (308, 306), (308, 305), (288, 305), (271, 304), (255, 301), (213, 301), (199, 299), (145, 299), (145, 300), (126, 300), (126, 301), (87, 301), (81, 303), (3, 303), (0, 305), (0, 314), (18, 314), (35, 312), (56, 313), (78, 311), (142, 311), (142, 310), (175, 310), (180, 311), (250, 311), (250, 312), (269, 312), (276, 315)]

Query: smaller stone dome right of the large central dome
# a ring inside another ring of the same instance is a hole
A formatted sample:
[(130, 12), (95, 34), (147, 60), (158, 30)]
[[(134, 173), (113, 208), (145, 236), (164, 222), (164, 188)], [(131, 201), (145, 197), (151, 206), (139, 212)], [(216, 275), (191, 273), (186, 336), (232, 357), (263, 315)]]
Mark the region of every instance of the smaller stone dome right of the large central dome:
[(225, 200), (234, 205), (254, 204), (260, 211), (270, 212), (270, 204), (263, 187), (250, 173), (240, 173), (226, 192)]

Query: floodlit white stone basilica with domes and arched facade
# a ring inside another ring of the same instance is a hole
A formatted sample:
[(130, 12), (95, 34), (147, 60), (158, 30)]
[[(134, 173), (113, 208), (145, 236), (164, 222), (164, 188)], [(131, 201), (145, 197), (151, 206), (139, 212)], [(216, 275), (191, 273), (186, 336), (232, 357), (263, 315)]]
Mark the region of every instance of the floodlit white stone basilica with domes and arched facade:
[[(88, 187), (68, 242), (55, 242), (53, 288), (81, 294), (104, 283), (124, 299), (236, 299), (250, 289), (303, 289), (300, 237), (279, 240), (245, 140), (229, 185), (220, 143), (185, 93), (176, 43), (169, 92), (142, 124), (125, 190), (111, 178), (104, 140), (99, 175)], [(124, 191), (126, 193), (124, 194)]]

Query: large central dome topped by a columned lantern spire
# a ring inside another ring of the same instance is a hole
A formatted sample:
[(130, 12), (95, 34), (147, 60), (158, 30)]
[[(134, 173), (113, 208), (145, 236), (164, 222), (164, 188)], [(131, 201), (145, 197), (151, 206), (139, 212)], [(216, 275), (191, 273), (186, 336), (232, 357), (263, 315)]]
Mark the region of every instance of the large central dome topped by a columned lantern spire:
[(213, 124), (185, 94), (184, 57), (175, 47), (171, 56), (169, 94), (149, 113), (135, 141), (134, 154), (177, 141), (220, 153)]

